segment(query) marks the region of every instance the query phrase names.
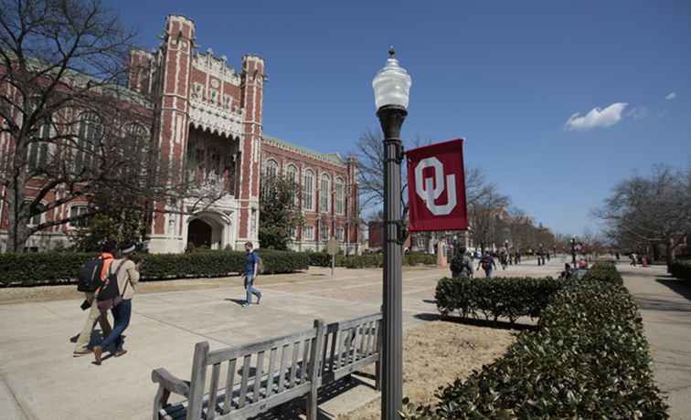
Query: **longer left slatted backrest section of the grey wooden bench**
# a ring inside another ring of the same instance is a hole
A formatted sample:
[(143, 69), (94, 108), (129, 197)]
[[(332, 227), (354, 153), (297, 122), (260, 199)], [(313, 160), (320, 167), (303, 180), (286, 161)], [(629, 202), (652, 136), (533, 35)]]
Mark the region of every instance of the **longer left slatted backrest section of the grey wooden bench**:
[[(318, 374), (317, 362), (323, 347), (324, 321), (314, 328), (243, 347), (209, 352), (208, 342), (195, 347), (190, 380), (187, 420), (249, 418), (269, 408), (310, 393), (311, 373)], [(211, 378), (207, 390), (207, 370)], [(223, 385), (219, 388), (222, 368)], [(318, 386), (318, 380), (314, 382)], [(207, 396), (205, 397), (205, 394)], [(205, 410), (206, 406), (206, 410)]]

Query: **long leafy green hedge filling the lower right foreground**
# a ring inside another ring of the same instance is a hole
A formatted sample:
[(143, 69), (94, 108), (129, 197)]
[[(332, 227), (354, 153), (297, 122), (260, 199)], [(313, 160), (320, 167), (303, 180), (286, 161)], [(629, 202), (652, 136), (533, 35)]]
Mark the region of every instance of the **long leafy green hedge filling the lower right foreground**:
[(505, 356), (440, 388), (406, 419), (666, 419), (643, 321), (616, 278), (571, 282)]

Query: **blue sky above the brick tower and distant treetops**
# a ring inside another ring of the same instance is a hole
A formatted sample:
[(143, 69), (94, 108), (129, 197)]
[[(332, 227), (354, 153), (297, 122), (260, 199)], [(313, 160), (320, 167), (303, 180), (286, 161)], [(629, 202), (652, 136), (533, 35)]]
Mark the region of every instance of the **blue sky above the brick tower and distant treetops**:
[(597, 229), (623, 177), (691, 163), (691, 2), (108, 3), (144, 47), (183, 14), (231, 66), (260, 54), (264, 131), (323, 152), (378, 130), (371, 80), (395, 45), (404, 137), (466, 138), (466, 165), (558, 232)]

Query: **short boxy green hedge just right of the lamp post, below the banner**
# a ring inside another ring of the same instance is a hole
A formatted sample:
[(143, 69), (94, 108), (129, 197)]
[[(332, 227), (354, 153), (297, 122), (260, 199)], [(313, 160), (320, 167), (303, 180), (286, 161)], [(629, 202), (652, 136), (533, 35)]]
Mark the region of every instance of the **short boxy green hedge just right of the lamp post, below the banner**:
[(514, 323), (519, 317), (537, 318), (549, 298), (564, 282), (554, 278), (441, 278), (437, 284), (437, 308), (462, 318), (480, 314)]

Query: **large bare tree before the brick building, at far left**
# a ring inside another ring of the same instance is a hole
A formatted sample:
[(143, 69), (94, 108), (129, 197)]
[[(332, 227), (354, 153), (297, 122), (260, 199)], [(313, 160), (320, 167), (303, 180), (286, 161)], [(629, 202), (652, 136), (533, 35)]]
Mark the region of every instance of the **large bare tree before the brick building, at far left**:
[[(152, 143), (151, 105), (122, 88), (132, 40), (98, 0), (0, 0), (0, 198), (10, 251), (121, 201), (55, 211), (97, 192), (126, 197), (123, 205), (146, 215), (162, 208), (154, 201), (169, 211), (181, 197), (204, 206), (223, 194), (211, 184), (189, 189), (182, 162)], [(48, 212), (49, 220), (31, 223)]]

